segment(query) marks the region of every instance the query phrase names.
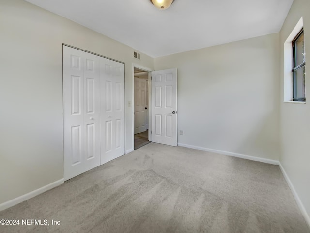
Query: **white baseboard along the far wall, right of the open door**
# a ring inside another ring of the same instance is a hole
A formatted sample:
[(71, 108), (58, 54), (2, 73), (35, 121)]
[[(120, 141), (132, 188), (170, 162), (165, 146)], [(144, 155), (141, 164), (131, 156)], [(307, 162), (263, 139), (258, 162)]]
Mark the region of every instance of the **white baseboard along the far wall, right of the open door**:
[(278, 160), (265, 159), (265, 158), (260, 158), (260, 157), (245, 155), (245, 154), (238, 154), (238, 153), (233, 153), (233, 152), (228, 152), (228, 151), (223, 151), (223, 150), (215, 150), (215, 149), (210, 149), (210, 148), (192, 146), (192, 145), (187, 145), (187, 144), (183, 144), (183, 143), (178, 143), (178, 146), (197, 149), (197, 150), (204, 150), (204, 151), (217, 153), (217, 154), (229, 155), (229, 156), (238, 157), (238, 158), (242, 158), (242, 159), (254, 160), (254, 161), (263, 162), (263, 163), (267, 163), (267, 164), (279, 165)]

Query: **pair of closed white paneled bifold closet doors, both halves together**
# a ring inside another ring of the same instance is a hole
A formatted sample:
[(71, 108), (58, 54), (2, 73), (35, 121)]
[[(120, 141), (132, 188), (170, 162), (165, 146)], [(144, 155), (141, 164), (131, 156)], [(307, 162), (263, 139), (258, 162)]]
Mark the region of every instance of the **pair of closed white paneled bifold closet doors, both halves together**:
[(124, 64), (63, 46), (64, 179), (124, 154)]

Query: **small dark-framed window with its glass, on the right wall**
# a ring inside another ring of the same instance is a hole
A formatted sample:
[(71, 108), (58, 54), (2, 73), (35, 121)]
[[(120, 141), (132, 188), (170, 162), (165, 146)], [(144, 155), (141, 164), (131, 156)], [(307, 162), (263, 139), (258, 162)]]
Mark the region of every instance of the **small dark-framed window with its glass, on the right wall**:
[(293, 101), (306, 101), (305, 95), (305, 46), (302, 29), (292, 41), (293, 46)]

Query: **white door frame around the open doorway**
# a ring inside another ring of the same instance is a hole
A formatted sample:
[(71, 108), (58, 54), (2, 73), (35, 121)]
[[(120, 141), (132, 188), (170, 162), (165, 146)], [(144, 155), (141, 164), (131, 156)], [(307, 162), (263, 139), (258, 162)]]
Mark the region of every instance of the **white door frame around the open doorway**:
[(143, 67), (139, 64), (136, 64), (136, 63), (131, 63), (131, 71), (132, 71), (132, 89), (131, 89), (131, 92), (132, 92), (132, 99), (131, 99), (131, 112), (132, 112), (132, 150), (131, 151), (134, 151), (135, 150), (135, 71), (134, 71), (134, 68), (138, 68), (138, 69), (141, 69), (141, 70), (144, 70), (146, 72), (149, 72), (149, 77), (148, 77), (148, 92), (149, 92), (149, 141), (152, 141), (152, 134), (151, 134), (151, 130), (152, 129), (152, 119), (151, 119), (151, 116), (152, 116), (152, 96), (151, 96), (151, 91), (152, 91), (152, 82), (151, 82), (151, 77), (152, 77), (152, 69), (151, 68), (148, 68), (148, 67)]

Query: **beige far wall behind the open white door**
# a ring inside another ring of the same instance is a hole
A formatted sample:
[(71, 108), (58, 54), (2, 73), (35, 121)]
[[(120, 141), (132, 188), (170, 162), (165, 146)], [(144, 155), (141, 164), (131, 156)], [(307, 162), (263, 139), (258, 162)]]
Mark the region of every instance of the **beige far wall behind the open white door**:
[(178, 143), (279, 160), (279, 33), (155, 58), (178, 68)]

